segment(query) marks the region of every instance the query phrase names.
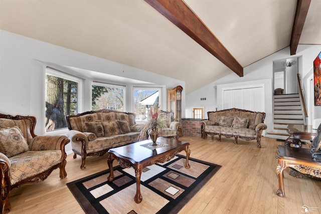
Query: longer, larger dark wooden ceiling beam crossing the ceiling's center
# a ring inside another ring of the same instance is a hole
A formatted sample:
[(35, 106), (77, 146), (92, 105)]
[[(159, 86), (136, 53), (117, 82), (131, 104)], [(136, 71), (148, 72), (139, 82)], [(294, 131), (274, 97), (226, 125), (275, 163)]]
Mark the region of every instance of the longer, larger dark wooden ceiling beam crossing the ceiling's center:
[(144, 0), (238, 76), (243, 67), (182, 0)]

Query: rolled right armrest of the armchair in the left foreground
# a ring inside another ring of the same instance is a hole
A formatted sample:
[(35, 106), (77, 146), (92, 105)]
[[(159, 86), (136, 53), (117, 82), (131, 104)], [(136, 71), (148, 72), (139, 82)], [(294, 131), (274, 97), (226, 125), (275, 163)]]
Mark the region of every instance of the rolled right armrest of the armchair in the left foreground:
[(40, 135), (31, 139), (29, 149), (31, 151), (65, 150), (67, 143), (69, 139), (66, 135)]

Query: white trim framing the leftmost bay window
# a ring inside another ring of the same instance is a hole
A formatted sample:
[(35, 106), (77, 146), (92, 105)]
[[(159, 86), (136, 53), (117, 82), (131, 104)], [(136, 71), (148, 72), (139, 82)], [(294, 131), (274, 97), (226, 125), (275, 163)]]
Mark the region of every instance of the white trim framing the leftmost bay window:
[[(51, 76), (55, 76), (55, 77), (58, 77), (58, 78), (62, 78), (62, 79), (66, 79), (66, 80), (70, 80), (70, 81), (73, 81), (73, 82), (76, 82), (78, 84), (78, 106), (77, 106), (77, 110), (78, 110), (78, 113), (82, 112), (82, 109), (83, 109), (83, 79), (79, 78), (79, 77), (75, 77), (75, 76), (72, 76), (72, 75), (68, 75), (66, 73), (64, 73), (63, 71), (58, 71), (58, 70), (55, 70), (55, 69), (52, 69), (52, 68), (49, 68), (49, 67), (46, 67), (46, 75), (51, 75)], [(45, 75), (45, 78), (44, 78), (44, 81), (45, 81), (45, 93), (44, 93), (44, 101), (46, 100), (46, 91), (47, 91), (47, 84), (46, 84), (46, 75)], [(45, 102), (44, 102), (45, 103)], [(44, 108), (44, 117), (43, 118), (46, 118), (46, 107)], [(68, 127), (66, 128), (62, 128), (62, 129), (57, 129), (55, 131), (50, 131), (50, 132), (47, 132), (45, 130), (45, 127), (43, 127), (43, 130), (45, 132), (45, 135), (60, 135), (60, 134), (65, 134), (68, 132)]]

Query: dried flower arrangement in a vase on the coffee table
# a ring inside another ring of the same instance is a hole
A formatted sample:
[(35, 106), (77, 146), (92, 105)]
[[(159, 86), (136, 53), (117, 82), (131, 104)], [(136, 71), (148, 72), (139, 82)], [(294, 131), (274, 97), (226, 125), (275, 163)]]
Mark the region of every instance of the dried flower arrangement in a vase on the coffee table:
[(147, 115), (147, 121), (141, 124), (140, 134), (138, 136), (141, 140), (148, 133), (153, 142), (153, 146), (157, 145), (156, 140), (159, 130), (166, 127), (166, 115), (159, 114), (159, 112), (161, 112), (161, 109), (159, 108), (158, 103), (155, 103), (150, 107)]

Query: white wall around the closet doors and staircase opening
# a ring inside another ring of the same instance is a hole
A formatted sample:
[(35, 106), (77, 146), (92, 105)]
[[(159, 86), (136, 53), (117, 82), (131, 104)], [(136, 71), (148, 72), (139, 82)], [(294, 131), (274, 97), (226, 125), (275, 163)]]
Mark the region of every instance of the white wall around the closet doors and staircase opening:
[[(193, 106), (203, 106), (205, 107), (205, 112), (215, 111), (216, 108), (221, 109), (220, 104), (217, 102), (217, 85), (239, 83), (253, 81), (253, 83), (260, 84), (262, 80), (270, 79), (272, 83), (273, 78), (273, 61), (280, 59), (287, 59), (290, 57), (301, 57), (301, 62), (299, 62), (300, 76), (303, 79), (305, 75), (309, 72), (311, 67), (313, 67), (313, 60), (317, 54), (321, 51), (321, 45), (299, 45), (297, 47), (296, 55), (290, 56), (290, 48), (286, 47), (272, 55), (269, 55), (243, 69), (244, 77), (239, 77), (235, 73), (232, 73), (226, 77), (223, 77), (213, 83), (210, 83), (199, 90), (186, 95), (186, 117), (193, 117), (192, 107)], [(304, 85), (304, 83), (303, 83)], [(272, 86), (269, 87), (271, 90), (266, 89), (265, 91), (265, 123), (267, 124), (267, 131), (272, 131), (272, 105), (273, 105), (273, 89)], [(306, 90), (306, 89), (305, 89)], [(306, 95), (306, 93), (304, 93)], [(206, 101), (201, 101), (200, 97), (206, 97)], [(305, 99), (306, 100), (306, 99)], [(315, 113), (315, 118), (321, 118), (321, 107), (315, 106), (319, 113)], [(207, 114), (205, 114), (207, 118)]]

